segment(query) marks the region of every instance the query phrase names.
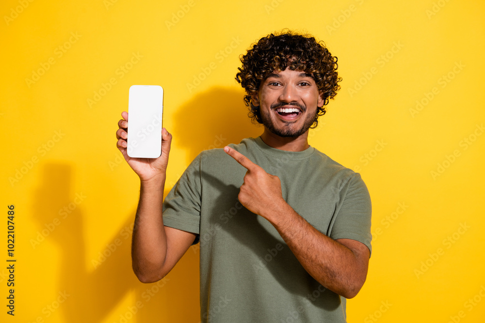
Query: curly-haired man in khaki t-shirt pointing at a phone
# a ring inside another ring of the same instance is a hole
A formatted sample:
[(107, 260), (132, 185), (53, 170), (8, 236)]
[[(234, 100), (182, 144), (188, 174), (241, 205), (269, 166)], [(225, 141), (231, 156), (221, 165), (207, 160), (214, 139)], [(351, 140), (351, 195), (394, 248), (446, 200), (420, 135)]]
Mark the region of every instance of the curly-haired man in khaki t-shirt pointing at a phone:
[(141, 180), (133, 270), (155, 282), (200, 241), (202, 322), (345, 322), (367, 276), (371, 201), (358, 173), (307, 141), (339, 90), (337, 58), (288, 31), (241, 61), (262, 135), (199, 154), (163, 204), (172, 136), (162, 129), (159, 158), (130, 158), (122, 113), (117, 147)]

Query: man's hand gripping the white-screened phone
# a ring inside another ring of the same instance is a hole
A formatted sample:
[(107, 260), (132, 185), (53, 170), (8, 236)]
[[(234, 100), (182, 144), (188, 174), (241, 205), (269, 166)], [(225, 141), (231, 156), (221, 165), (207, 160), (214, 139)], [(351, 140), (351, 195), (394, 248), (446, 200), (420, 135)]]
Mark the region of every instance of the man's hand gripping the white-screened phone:
[(156, 179), (162, 176), (165, 180), (168, 154), (170, 153), (170, 144), (172, 143), (172, 135), (168, 133), (165, 128), (162, 128), (162, 155), (158, 158), (132, 158), (128, 155), (128, 112), (121, 113), (122, 120), (118, 121), (118, 130), (116, 131), (116, 147), (120, 150), (128, 165), (140, 177), (142, 182)]

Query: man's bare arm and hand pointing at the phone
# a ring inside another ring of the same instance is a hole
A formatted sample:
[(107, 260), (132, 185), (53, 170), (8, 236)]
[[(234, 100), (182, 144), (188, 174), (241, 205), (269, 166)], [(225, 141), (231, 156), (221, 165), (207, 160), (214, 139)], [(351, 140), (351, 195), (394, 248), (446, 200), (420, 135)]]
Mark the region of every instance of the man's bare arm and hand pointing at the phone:
[(234, 149), (224, 149), (248, 169), (238, 195), (242, 205), (275, 226), (305, 270), (325, 288), (345, 298), (356, 296), (367, 277), (369, 248), (356, 240), (333, 240), (315, 229), (283, 199), (277, 176)]

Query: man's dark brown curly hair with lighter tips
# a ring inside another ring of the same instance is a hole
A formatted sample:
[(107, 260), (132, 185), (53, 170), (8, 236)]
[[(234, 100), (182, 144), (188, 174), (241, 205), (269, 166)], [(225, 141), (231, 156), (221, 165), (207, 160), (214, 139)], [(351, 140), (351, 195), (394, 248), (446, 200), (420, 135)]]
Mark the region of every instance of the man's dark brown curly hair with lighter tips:
[(317, 42), (312, 35), (282, 31), (269, 34), (259, 39), (241, 55), (242, 68), (236, 74), (236, 80), (246, 91), (244, 102), (250, 106), (248, 116), (253, 123), (262, 123), (259, 107), (253, 106), (251, 96), (257, 95), (259, 85), (274, 71), (283, 71), (290, 67), (292, 71), (304, 71), (312, 74), (319, 92), (323, 92), (323, 106), (317, 107), (315, 121), (311, 128), (318, 125), (318, 117), (325, 114), (325, 105), (339, 91), (337, 57), (332, 56), (323, 41)]

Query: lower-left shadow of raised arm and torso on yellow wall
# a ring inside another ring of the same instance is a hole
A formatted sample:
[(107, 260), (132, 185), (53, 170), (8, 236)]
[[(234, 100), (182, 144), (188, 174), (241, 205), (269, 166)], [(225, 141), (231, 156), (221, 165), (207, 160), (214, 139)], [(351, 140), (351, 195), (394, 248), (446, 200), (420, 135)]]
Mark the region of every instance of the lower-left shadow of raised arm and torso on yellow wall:
[[(76, 196), (69, 193), (75, 186), (71, 183), (72, 168), (66, 164), (44, 165), (42, 182), (36, 190), (33, 204), (33, 214), (39, 228), (45, 228), (45, 223), (52, 223), (54, 218), (60, 221), (46, 240), (58, 246), (61, 256), (61, 267), (52, 268), (51, 271), (59, 272), (59, 283), (55, 288), (64, 297), (59, 305), (62, 322), (103, 322), (128, 293), (134, 295), (134, 303), (117, 309), (113, 322), (198, 322), (198, 253), (189, 250), (178, 263), (177, 270), (157, 283), (143, 284), (134, 275), (130, 246), (136, 208), (124, 215), (128, 220), (115, 231), (104, 248), (88, 261), (86, 267), (83, 215), (87, 212), (80, 203), (76, 208), (72, 207), (69, 213), (59, 214), (59, 210), (65, 206), (76, 204), (73, 204)], [(97, 216), (115, 215), (90, 215), (91, 218)], [(109, 230), (112, 231), (112, 228)], [(57, 261), (46, 259), (46, 263)], [(177, 308), (190, 310), (180, 312)], [(40, 312), (39, 315), (45, 317)], [(29, 322), (35, 322), (36, 317), (30, 319)]]

